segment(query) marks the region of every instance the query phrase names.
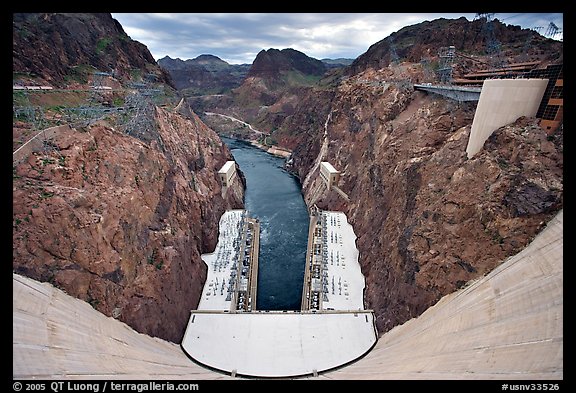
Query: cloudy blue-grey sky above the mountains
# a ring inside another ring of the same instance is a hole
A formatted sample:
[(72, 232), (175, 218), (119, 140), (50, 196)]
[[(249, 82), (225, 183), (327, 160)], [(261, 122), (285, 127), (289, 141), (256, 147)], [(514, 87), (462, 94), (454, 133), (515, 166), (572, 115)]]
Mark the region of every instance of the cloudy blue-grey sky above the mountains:
[[(262, 49), (293, 48), (308, 56), (356, 58), (370, 45), (402, 27), (466, 13), (113, 13), (126, 33), (148, 47), (156, 60), (182, 60), (201, 54), (231, 64), (250, 64)], [(561, 13), (494, 14), (500, 21), (522, 28), (549, 31), (554, 23), (563, 30)], [(562, 38), (557, 34), (554, 38)]]

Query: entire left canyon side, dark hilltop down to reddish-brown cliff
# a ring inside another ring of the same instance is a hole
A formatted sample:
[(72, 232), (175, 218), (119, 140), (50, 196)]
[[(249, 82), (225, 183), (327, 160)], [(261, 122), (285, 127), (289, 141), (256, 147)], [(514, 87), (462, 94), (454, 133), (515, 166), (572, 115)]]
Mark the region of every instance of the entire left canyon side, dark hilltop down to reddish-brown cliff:
[[(14, 19), (20, 71), (67, 86), (75, 65), (110, 66), (116, 83), (157, 72), (148, 89), (169, 90), (148, 49), (109, 14)], [(24, 97), (61, 108), (74, 95), (74, 106), (109, 112), (13, 132), (25, 137), (13, 154), (13, 270), (139, 332), (180, 342), (206, 276), (200, 255), (216, 246), (222, 213), (243, 206), (244, 179), (221, 195), (217, 171), (232, 155), (183, 101), (170, 109), (166, 99), (154, 104), (162, 97), (153, 90), (115, 88), (121, 93), (98, 95), (106, 101), (98, 104), (71, 89)]]

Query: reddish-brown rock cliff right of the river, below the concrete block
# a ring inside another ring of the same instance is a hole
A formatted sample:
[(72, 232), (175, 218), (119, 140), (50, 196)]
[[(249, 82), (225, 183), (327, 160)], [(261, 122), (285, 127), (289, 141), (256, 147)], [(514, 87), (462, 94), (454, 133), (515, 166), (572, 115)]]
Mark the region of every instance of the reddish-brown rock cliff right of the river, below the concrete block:
[[(354, 227), (380, 332), (520, 251), (563, 206), (561, 133), (520, 118), (469, 160), (475, 104), (414, 91), (419, 70), (358, 73), (310, 93), (283, 125), (308, 205), (342, 210)], [(344, 173), (349, 202), (326, 190), (320, 161)]]

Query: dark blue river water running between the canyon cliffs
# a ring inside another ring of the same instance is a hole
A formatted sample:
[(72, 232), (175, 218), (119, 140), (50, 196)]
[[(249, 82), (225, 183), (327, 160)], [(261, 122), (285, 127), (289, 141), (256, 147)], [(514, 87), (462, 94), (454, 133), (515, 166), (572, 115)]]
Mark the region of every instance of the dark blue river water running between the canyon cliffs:
[(300, 310), (309, 216), (284, 159), (222, 137), (246, 177), (245, 209), (260, 220), (258, 310)]

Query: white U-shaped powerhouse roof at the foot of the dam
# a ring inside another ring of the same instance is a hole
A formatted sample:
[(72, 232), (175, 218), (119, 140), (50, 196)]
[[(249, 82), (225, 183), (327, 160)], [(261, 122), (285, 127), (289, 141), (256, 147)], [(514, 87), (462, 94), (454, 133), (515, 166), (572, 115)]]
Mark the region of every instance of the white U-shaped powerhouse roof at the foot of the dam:
[(254, 377), (317, 375), (368, 352), (377, 331), (363, 307), (364, 277), (346, 215), (312, 215), (301, 311), (253, 308), (255, 280), (247, 277), (257, 270), (258, 231), (249, 222), (243, 210), (223, 214), (216, 250), (202, 255), (208, 276), (182, 349), (202, 365)]

